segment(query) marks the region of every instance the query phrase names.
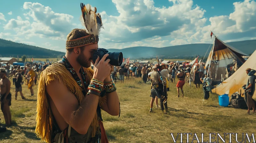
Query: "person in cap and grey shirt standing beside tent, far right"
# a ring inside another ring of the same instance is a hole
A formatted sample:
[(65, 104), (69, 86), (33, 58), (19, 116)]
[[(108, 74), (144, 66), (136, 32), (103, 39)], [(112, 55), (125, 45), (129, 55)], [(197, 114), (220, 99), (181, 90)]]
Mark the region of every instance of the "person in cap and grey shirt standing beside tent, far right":
[(250, 115), (250, 109), (252, 108), (252, 113), (255, 113), (255, 100), (252, 99), (252, 96), (255, 91), (255, 79), (256, 76), (254, 75), (256, 73), (255, 70), (252, 70), (250, 68), (247, 68), (246, 74), (249, 76), (247, 84), (243, 86), (244, 88), (244, 101), (247, 104), (248, 110), (247, 114)]

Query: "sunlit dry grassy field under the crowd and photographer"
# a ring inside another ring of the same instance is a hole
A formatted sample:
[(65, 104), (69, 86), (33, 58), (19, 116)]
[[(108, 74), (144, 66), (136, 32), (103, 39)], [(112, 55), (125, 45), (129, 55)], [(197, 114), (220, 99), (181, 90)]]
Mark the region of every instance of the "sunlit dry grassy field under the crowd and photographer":
[[(121, 116), (110, 116), (102, 111), (103, 124), (110, 143), (171, 143), (170, 133), (197, 133), (201, 141), (201, 133), (205, 133), (206, 141), (208, 133), (239, 133), (238, 139), (242, 140), (241, 133), (250, 136), (255, 132), (256, 115), (247, 115), (246, 110), (224, 108), (218, 104), (218, 95), (210, 94), (207, 101), (203, 101), (202, 89), (194, 86), (184, 87), (185, 97), (178, 98), (176, 84), (170, 83), (168, 92), (168, 109), (170, 113), (163, 114), (156, 108), (153, 113), (148, 113), (151, 97), (150, 84), (143, 84), (142, 80), (125, 80), (124, 84), (116, 83), (117, 93), (121, 103)], [(34, 87), (36, 93), (36, 87)], [(12, 120), (13, 125), (7, 128), (7, 132), (1, 133), (1, 143), (39, 143), (40, 140), (34, 134), (36, 121), (36, 95), (30, 96), (26, 85), (23, 85), (23, 94), (27, 100), (22, 100), (18, 94), (18, 100), (14, 100), (14, 85), (12, 92)], [(158, 100), (159, 102), (159, 100)], [(159, 103), (160, 105), (160, 103)], [(0, 113), (1, 124), (4, 117)], [(192, 141), (193, 136), (189, 137)], [(215, 139), (217, 136), (215, 136)], [(180, 137), (178, 137), (178, 140)], [(226, 136), (226, 141), (228, 140)], [(186, 135), (183, 136), (186, 142)], [(204, 140), (205, 141), (205, 140)], [(235, 136), (232, 136), (235, 142)], [(195, 141), (196, 142), (196, 141)], [(221, 141), (220, 141), (221, 142)]]

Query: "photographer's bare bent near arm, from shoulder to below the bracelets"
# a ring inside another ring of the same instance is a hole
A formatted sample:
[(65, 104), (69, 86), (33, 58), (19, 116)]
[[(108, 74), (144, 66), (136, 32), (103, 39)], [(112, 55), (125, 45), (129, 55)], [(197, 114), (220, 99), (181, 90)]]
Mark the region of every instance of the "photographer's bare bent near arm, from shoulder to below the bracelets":
[(62, 81), (59, 82), (58, 80), (47, 85), (46, 91), (64, 120), (76, 132), (86, 134), (95, 116), (99, 96), (90, 94), (84, 98), (79, 106), (75, 95), (68, 90)]

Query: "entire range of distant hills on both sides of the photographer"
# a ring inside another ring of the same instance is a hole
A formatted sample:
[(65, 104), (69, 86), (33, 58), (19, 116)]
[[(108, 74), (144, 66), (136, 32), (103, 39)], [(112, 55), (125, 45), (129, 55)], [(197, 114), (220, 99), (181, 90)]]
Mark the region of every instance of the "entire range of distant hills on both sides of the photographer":
[[(229, 45), (250, 55), (256, 49), (256, 40), (229, 42)], [(122, 52), (125, 58), (149, 59), (159, 56), (161, 58), (193, 59), (196, 56), (204, 56), (210, 44), (187, 44), (163, 48), (155, 47), (131, 47), (125, 49), (108, 49), (109, 52)], [(210, 46), (211, 50), (212, 44)], [(104, 48), (104, 47), (100, 47)], [(208, 50), (208, 53), (209, 53)], [(64, 52), (44, 49), (36, 46), (26, 45), (0, 39), (0, 56), (21, 57), (23, 55), (35, 58), (56, 58), (65, 55)], [(208, 54), (207, 54), (208, 56)]]

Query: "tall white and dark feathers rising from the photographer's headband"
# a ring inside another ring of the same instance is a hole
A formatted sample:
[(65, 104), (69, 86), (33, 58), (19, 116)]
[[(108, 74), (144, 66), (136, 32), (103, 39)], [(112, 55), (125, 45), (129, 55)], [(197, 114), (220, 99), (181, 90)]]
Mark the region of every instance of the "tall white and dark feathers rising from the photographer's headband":
[(93, 34), (94, 36), (100, 34), (100, 28), (102, 27), (102, 21), (100, 13), (97, 13), (97, 8), (90, 4), (84, 5), (83, 3), (80, 4), (82, 15), (80, 20), (82, 25), (86, 28), (86, 32), (88, 34)]

